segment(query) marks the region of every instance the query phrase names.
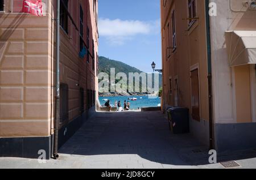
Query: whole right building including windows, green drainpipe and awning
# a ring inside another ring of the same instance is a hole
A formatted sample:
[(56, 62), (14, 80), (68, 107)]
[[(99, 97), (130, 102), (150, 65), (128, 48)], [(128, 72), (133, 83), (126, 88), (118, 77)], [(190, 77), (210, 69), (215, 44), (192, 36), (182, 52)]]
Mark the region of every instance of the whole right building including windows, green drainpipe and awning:
[(218, 151), (256, 147), (255, 1), (161, 1), (163, 110)]

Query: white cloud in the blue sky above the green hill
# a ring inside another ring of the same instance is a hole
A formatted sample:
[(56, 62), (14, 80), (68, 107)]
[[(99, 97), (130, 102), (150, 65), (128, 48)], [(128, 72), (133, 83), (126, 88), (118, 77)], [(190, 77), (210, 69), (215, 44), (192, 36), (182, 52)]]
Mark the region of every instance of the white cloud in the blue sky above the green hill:
[(122, 45), (136, 35), (149, 35), (160, 32), (160, 20), (142, 22), (139, 20), (99, 19), (100, 36), (106, 37), (112, 45)]

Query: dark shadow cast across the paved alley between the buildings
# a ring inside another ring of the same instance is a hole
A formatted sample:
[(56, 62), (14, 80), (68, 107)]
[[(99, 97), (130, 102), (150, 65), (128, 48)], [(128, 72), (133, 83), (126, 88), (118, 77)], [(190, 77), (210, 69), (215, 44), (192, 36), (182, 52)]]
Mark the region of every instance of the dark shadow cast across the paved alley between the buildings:
[[(171, 134), (160, 112), (96, 113), (61, 147), (82, 156), (138, 155), (167, 165), (207, 165), (208, 147), (190, 134)], [(225, 152), (218, 162), (256, 157), (256, 151)]]

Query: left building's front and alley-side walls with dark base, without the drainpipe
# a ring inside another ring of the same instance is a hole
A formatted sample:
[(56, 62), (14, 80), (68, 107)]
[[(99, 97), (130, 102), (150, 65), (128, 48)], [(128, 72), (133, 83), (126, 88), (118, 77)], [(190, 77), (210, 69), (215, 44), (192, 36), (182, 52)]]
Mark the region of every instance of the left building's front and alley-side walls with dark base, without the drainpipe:
[[(38, 157), (43, 149), (51, 157), (56, 1), (42, 2), (42, 17), (21, 12), (23, 1), (0, 3), (0, 156)], [(98, 94), (98, 1), (60, 2), (59, 147), (95, 111)]]

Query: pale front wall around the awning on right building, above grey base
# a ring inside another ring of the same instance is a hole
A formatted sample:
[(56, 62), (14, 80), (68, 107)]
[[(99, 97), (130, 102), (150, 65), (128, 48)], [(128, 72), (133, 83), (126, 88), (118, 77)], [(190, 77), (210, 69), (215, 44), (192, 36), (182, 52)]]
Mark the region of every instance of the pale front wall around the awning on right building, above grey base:
[[(212, 38), (213, 93), (215, 123), (249, 123), (254, 119), (254, 65), (230, 67), (225, 31), (256, 31), (256, 10), (242, 0), (211, 1), (217, 16), (210, 17)], [(253, 66), (251, 68), (250, 66)]]

